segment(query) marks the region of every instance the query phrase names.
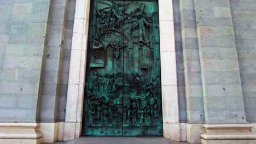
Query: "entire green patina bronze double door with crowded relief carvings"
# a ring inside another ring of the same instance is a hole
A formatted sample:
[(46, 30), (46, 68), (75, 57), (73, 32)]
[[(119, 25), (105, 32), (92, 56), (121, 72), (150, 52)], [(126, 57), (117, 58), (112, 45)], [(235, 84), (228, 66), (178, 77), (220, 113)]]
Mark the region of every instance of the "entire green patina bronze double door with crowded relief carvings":
[(82, 135), (161, 136), (158, 1), (91, 1)]

